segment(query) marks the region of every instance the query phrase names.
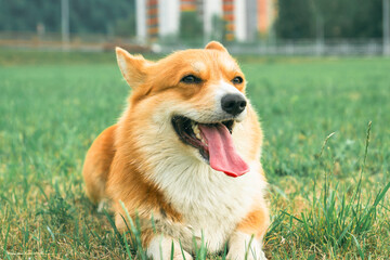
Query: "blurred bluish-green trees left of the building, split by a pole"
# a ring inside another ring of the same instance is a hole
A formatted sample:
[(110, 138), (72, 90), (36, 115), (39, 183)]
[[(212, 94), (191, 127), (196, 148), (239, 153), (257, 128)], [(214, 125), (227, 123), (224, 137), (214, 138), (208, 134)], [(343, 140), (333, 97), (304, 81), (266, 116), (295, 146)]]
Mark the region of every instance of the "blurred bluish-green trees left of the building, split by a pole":
[[(0, 30), (61, 31), (60, 0), (0, 0)], [(127, 35), (135, 35), (135, 0), (69, 0), (70, 32), (108, 34), (129, 21)], [(121, 22), (120, 22), (121, 21)], [(120, 34), (125, 34), (122, 29)]]

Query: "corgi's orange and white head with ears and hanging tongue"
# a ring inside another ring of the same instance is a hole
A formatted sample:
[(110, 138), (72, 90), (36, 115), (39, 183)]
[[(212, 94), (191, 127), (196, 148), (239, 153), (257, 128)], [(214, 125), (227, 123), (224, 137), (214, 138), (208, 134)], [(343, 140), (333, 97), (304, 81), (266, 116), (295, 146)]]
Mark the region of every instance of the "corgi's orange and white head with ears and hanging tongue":
[(249, 170), (231, 136), (247, 115), (246, 80), (221, 43), (179, 51), (158, 62), (120, 48), (116, 53), (133, 89), (127, 116), (136, 118), (132, 123), (142, 129), (138, 133), (142, 146), (181, 148), (181, 154), (190, 152), (233, 177)]

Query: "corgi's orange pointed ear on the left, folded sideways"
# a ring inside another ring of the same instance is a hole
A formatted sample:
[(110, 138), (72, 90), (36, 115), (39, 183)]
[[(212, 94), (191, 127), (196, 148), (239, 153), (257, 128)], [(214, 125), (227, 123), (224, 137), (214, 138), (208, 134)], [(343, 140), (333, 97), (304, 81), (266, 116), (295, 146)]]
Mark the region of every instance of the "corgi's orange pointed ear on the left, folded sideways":
[(131, 88), (136, 88), (146, 79), (146, 67), (150, 64), (142, 55), (131, 55), (123, 49), (115, 49), (117, 62), (123, 78)]

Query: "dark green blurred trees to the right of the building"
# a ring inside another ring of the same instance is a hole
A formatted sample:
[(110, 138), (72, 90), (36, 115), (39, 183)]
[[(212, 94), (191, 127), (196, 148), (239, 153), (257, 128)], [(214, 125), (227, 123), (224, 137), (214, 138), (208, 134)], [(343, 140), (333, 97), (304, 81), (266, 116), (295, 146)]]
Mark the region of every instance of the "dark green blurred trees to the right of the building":
[[(278, 0), (282, 39), (381, 38), (382, 0)], [(322, 32), (321, 32), (322, 34)]]

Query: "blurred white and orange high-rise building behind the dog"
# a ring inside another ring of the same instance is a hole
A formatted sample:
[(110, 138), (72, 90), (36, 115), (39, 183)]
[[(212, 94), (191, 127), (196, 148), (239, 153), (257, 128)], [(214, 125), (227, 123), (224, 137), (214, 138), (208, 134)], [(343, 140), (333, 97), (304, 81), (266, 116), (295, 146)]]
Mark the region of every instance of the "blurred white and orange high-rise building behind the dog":
[(136, 35), (141, 42), (176, 36), (180, 15), (196, 12), (210, 39), (214, 17), (223, 21), (226, 41), (251, 41), (266, 35), (274, 20), (275, 0), (136, 0)]

